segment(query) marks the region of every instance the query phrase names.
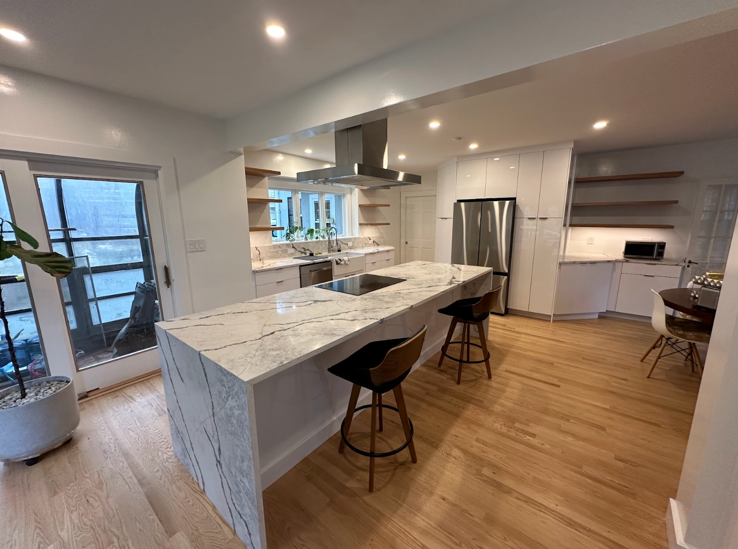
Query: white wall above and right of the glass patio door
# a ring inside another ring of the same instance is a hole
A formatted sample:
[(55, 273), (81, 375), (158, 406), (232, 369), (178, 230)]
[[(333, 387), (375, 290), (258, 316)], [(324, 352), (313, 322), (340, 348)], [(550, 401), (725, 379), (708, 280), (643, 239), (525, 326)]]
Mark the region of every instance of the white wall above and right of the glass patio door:
[[(226, 152), (224, 122), (30, 72), (0, 76), (0, 150), (161, 167), (176, 314), (252, 298), (244, 162)], [(187, 254), (185, 238), (207, 251)]]

